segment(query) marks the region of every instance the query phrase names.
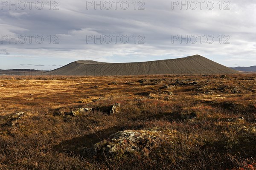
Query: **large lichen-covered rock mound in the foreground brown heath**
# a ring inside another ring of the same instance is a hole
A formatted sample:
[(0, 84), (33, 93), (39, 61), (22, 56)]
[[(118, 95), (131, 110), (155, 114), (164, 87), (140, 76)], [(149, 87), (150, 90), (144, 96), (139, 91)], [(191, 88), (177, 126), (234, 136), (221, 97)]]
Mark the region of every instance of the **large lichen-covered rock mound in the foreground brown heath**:
[(89, 157), (134, 152), (148, 156), (155, 144), (168, 138), (169, 136), (157, 130), (124, 130), (112, 134), (107, 141), (94, 144), (92, 148), (83, 147), (81, 152), (82, 155)]

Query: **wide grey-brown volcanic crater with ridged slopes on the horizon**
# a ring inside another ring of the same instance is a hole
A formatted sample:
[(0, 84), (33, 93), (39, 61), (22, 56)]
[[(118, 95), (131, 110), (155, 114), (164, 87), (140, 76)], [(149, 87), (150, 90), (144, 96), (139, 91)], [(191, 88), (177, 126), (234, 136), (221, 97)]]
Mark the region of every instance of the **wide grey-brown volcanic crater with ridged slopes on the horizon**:
[(239, 74), (200, 55), (148, 62), (75, 61), (51, 71), (54, 75), (115, 76), (148, 74)]

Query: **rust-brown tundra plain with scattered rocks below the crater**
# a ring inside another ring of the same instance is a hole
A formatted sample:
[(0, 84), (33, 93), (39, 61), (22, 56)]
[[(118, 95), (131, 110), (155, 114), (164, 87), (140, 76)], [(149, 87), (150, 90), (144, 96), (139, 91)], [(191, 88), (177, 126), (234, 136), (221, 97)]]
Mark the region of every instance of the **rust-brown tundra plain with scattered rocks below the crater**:
[(0, 78), (1, 170), (256, 170), (255, 74)]

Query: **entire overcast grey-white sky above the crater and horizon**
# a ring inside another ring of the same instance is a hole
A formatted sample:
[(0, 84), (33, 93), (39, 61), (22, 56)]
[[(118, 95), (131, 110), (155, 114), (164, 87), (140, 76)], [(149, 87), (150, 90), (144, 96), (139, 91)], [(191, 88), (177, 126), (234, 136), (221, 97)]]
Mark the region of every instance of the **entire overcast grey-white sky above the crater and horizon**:
[(200, 54), (256, 65), (256, 1), (0, 1), (0, 68), (76, 60), (139, 62)]

